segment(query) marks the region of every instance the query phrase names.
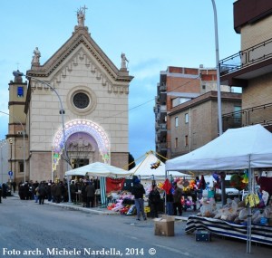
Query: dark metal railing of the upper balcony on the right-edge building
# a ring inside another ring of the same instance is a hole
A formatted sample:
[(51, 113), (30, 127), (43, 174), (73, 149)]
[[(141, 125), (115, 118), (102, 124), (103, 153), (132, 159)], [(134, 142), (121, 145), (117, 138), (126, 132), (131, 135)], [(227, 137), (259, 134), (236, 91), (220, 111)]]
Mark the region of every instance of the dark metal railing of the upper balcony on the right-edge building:
[(219, 62), (220, 76), (236, 72), (257, 62), (272, 57), (272, 39), (258, 43), (244, 51), (235, 53)]

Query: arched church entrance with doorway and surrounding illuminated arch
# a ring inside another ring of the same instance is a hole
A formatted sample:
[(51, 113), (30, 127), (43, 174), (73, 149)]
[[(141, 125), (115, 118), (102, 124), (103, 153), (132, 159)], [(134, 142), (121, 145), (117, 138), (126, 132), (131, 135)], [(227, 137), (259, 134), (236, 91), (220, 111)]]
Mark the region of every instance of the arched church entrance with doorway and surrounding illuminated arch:
[(73, 119), (66, 122), (53, 138), (53, 170), (59, 163), (66, 145), (72, 168), (82, 167), (95, 161), (110, 163), (110, 141), (104, 129), (91, 120)]

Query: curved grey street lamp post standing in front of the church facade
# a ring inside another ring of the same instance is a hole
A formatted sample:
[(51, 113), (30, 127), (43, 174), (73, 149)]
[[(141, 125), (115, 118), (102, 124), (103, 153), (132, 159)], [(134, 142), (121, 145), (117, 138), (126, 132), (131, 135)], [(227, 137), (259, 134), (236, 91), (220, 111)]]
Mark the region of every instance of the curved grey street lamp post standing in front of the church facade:
[[(26, 79), (28, 78), (33, 78), (35, 81), (40, 81), (42, 83), (44, 83), (46, 86), (48, 86), (58, 97), (58, 100), (60, 102), (60, 105), (61, 105), (61, 110), (60, 110), (60, 115), (62, 116), (62, 125), (63, 125), (63, 148), (64, 148), (64, 159), (66, 160), (67, 164), (68, 164), (68, 155), (67, 155), (67, 150), (66, 150), (66, 144), (65, 144), (65, 141), (66, 141), (66, 135), (65, 135), (65, 127), (64, 127), (64, 113), (65, 111), (63, 110), (63, 102), (61, 100), (61, 97), (60, 95), (58, 94), (57, 91), (55, 91), (55, 89), (49, 84), (47, 83), (46, 81), (42, 81), (34, 76), (30, 76), (30, 75), (25, 75), (23, 72), (19, 72), (19, 71), (15, 71), (13, 72), (13, 74), (16, 76), (24, 76)], [(68, 167), (68, 165), (67, 165)], [(67, 169), (68, 170), (68, 169)], [(68, 196), (69, 196), (69, 202), (71, 202), (71, 194), (70, 194), (70, 185), (69, 185), (69, 178), (68, 178)]]

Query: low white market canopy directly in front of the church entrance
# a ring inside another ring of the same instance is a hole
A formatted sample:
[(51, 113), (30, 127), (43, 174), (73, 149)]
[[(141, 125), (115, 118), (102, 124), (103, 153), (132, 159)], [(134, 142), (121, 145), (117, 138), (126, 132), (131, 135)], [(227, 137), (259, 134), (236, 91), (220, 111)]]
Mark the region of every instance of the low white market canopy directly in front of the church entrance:
[(120, 167), (94, 162), (83, 167), (77, 167), (72, 170), (66, 171), (65, 176), (93, 176), (93, 177), (129, 177), (131, 172), (124, 170)]

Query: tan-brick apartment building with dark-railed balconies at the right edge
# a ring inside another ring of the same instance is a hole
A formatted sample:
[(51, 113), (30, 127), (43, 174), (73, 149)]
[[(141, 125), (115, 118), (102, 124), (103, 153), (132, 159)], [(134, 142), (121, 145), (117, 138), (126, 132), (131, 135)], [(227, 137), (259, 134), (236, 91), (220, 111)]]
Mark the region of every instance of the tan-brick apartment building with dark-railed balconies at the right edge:
[(220, 61), (220, 81), (242, 88), (242, 109), (225, 114), (223, 123), (240, 116), (240, 126), (262, 124), (272, 131), (272, 2), (238, 0), (233, 6), (241, 49)]

